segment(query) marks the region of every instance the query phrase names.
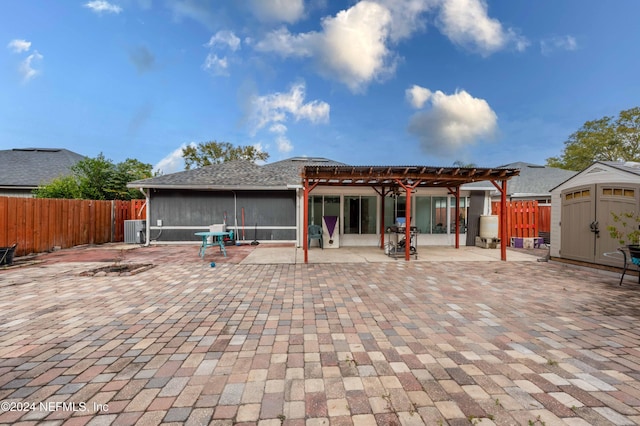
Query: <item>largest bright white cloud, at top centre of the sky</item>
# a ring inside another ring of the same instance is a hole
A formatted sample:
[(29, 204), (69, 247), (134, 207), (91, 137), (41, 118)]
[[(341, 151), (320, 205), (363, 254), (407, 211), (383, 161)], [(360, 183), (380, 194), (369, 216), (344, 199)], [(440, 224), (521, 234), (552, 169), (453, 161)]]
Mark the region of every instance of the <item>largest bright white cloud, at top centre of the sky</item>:
[(283, 57), (313, 56), (318, 72), (362, 91), (376, 79), (393, 73), (395, 63), (387, 47), (391, 13), (380, 4), (361, 1), (322, 20), (321, 32), (291, 34), (286, 29), (270, 33), (256, 49)]

